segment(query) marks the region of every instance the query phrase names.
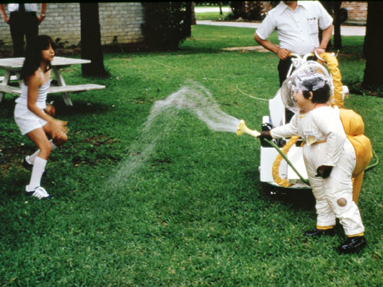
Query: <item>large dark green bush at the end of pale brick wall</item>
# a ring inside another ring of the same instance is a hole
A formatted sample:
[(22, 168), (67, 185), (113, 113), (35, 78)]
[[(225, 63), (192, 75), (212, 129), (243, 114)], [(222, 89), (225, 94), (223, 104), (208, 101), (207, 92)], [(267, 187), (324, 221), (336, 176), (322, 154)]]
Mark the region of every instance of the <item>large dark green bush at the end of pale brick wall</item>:
[(142, 2), (142, 6), (141, 29), (148, 46), (158, 50), (177, 49), (190, 32), (186, 2)]

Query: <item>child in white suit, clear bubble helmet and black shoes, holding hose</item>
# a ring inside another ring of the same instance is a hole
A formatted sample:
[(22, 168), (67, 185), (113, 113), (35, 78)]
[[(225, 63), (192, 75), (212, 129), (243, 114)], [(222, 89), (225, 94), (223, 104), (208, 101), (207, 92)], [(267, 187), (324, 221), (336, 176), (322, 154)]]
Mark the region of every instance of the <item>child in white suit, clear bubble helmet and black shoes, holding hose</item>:
[(339, 218), (348, 236), (339, 251), (357, 251), (366, 245), (366, 239), (359, 209), (352, 201), (356, 156), (345, 135), (339, 109), (327, 103), (331, 82), (317, 71), (306, 70), (286, 79), (284, 86), (290, 93), (290, 101), (297, 107), (296, 114), (290, 123), (262, 132), (260, 137), (299, 135), (304, 140), (303, 158), (318, 215), (316, 229), (305, 234), (334, 235), (336, 218)]

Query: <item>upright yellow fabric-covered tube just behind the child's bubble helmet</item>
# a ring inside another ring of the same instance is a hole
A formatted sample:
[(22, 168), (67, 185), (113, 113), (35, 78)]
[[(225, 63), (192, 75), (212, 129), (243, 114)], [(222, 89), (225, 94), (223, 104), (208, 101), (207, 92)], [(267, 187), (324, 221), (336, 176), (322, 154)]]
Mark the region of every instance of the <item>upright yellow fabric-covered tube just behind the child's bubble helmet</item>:
[[(331, 72), (332, 76), (332, 84), (334, 85), (334, 96), (331, 97), (333, 99), (331, 106), (338, 106), (338, 108), (343, 109), (344, 101), (343, 101), (343, 87), (342, 87), (342, 76), (340, 75), (340, 70), (338, 68), (338, 60), (336, 57), (331, 55), (331, 53), (323, 53), (319, 55), (323, 60), (326, 61), (327, 67)], [(323, 65), (323, 61), (318, 59), (318, 62)]]

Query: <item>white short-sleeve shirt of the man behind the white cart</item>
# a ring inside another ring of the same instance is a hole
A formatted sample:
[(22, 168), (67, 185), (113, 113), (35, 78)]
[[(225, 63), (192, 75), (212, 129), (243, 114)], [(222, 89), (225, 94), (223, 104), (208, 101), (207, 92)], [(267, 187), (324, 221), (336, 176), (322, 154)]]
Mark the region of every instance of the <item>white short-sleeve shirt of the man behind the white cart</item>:
[(298, 1), (295, 10), (281, 1), (268, 12), (255, 33), (265, 40), (277, 30), (281, 48), (304, 55), (319, 47), (318, 28), (324, 30), (331, 23), (331, 16), (318, 1)]

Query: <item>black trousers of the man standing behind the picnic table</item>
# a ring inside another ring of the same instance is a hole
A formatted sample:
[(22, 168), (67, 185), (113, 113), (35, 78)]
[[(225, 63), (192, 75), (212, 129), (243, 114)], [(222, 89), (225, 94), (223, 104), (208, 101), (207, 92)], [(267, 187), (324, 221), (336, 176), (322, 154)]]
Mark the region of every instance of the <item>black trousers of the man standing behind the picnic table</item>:
[(36, 12), (11, 12), (8, 24), (13, 42), (13, 56), (24, 57), (24, 36), (28, 44), (34, 36), (39, 34)]

